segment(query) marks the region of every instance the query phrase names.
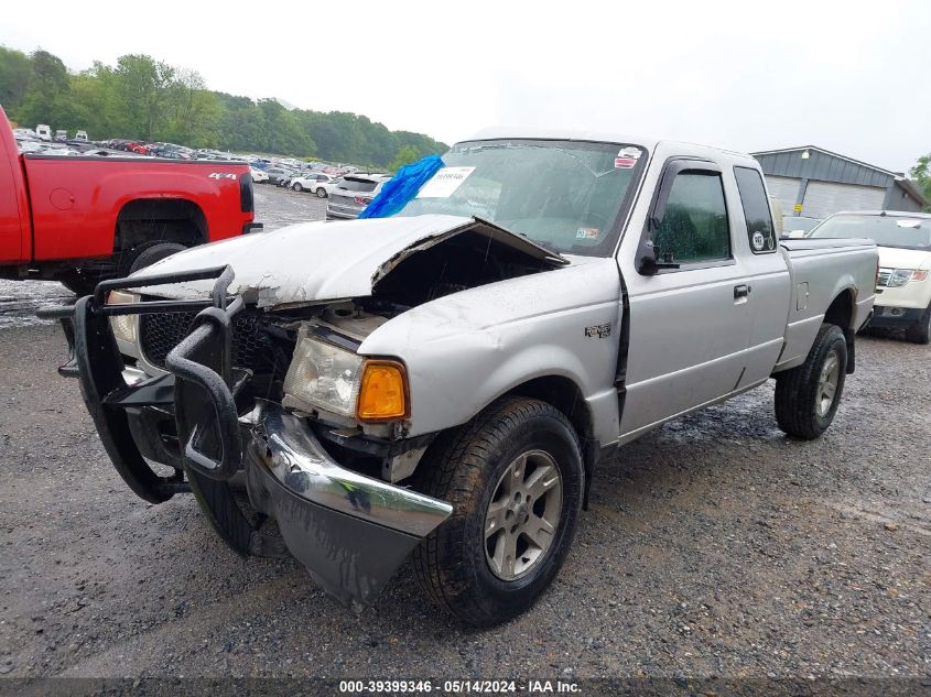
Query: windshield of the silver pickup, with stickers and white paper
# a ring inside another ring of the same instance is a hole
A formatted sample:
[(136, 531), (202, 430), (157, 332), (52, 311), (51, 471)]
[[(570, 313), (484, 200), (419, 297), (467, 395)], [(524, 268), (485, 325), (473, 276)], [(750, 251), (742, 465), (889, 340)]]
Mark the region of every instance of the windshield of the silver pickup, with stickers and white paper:
[(559, 252), (609, 257), (643, 152), (575, 141), (459, 143), (397, 215), (477, 217)]

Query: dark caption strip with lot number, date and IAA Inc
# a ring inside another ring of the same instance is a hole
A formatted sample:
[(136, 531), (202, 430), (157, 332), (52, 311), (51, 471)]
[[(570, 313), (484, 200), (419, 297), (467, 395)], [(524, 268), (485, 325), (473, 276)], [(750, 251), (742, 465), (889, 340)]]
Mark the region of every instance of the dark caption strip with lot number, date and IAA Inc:
[(911, 697), (931, 694), (913, 678), (0, 678), (0, 697), (251, 697), (271, 695), (592, 695), (648, 697)]

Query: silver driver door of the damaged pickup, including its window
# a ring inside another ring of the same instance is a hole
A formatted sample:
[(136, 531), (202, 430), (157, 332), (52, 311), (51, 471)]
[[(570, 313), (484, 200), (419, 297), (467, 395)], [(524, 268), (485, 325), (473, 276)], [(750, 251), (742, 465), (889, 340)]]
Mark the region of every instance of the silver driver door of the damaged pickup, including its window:
[(639, 240), (639, 249), (656, 250), (661, 268), (638, 269), (638, 254), (624, 250), (630, 345), (623, 440), (740, 382), (753, 327), (750, 279), (735, 253), (738, 221), (726, 176), (705, 160), (667, 161)]

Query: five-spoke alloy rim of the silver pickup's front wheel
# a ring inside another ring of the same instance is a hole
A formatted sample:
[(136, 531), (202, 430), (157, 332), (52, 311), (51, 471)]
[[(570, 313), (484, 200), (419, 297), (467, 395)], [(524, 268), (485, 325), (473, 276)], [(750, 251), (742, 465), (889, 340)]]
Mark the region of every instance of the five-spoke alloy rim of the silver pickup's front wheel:
[(508, 465), (485, 513), (485, 558), (495, 576), (517, 580), (545, 558), (562, 499), (562, 476), (549, 453), (529, 450)]

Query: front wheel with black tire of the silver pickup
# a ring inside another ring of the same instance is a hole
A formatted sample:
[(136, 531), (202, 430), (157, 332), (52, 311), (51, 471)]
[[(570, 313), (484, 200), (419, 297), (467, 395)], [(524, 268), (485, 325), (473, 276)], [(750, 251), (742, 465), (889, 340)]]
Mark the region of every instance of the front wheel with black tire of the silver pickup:
[(479, 627), (532, 606), (565, 560), (582, 504), (581, 447), (566, 417), (504, 397), (440, 436), (418, 472), (419, 489), (453, 504), (413, 554), (425, 593)]

